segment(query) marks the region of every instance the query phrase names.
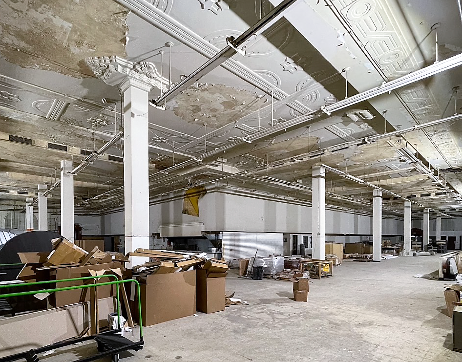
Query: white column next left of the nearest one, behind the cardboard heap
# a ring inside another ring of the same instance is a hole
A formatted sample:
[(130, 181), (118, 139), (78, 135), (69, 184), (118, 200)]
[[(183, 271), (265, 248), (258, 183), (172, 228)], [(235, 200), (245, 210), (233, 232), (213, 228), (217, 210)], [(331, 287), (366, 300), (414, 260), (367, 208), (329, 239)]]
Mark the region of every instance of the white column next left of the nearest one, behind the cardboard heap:
[(61, 235), (74, 242), (74, 175), (72, 161), (61, 161)]

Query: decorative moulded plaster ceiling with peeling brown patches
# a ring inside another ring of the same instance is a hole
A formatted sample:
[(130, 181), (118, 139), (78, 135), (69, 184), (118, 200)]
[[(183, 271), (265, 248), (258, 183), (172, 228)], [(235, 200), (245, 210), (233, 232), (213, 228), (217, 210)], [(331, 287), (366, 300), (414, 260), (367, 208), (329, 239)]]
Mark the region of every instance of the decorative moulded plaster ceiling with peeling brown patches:
[[(146, 6), (145, 19), (126, 11), (122, 0), (0, 5), (1, 189), (35, 192), (37, 183), (52, 184), (60, 159), (77, 164), (85, 150), (101, 147), (123, 126), (120, 95), (91, 77), (84, 58), (119, 55), (152, 62), (177, 83), (222, 49), (227, 37), (240, 35), (260, 12), (264, 16), (280, 2), (263, 0), (260, 9), (260, 0), (136, 1)], [(441, 7), (429, 0), (299, 0), (285, 18), (246, 44), (245, 56), (238, 54), (210, 72), (168, 102), (165, 111), (150, 108), (151, 196), (226, 182), (306, 202), (311, 167), (321, 162), (403, 196), (415, 195), (428, 207), (446, 210), (458, 204), (447, 191), (435, 197), (441, 186), (397, 152), (411, 149), (424, 167), (430, 164), (435, 174), (441, 169), (440, 178), (462, 192), (454, 173), (462, 166), (458, 123), (303, 158), (458, 111), (454, 98), (460, 94), (453, 96), (452, 89), (462, 77), (456, 68), (355, 106), (367, 109), (370, 119), (349, 117), (354, 109), (332, 116), (319, 112), (345, 97), (345, 77), (353, 95), (433, 63), (434, 23), (441, 23), (440, 60), (460, 53), (456, 9), (455, 1)], [(173, 43), (171, 64), (167, 42)], [(151, 94), (158, 95), (158, 90)], [(292, 126), (294, 119), (298, 124)], [(262, 131), (266, 135), (260, 138)], [(33, 144), (11, 142), (9, 135)], [(50, 149), (48, 143), (67, 150)], [(76, 205), (82, 212), (123, 204), (121, 146), (76, 176), (81, 182)], [(370, 211), (372, 189), (332, 173), (327, 181), (331, 205)], [(11, 197), (5, 194), (5, 202)], [(58, 207), (54, 195), (50, 200)], [(401, 200), (386, 202), (388, 212), (402, 208)]]

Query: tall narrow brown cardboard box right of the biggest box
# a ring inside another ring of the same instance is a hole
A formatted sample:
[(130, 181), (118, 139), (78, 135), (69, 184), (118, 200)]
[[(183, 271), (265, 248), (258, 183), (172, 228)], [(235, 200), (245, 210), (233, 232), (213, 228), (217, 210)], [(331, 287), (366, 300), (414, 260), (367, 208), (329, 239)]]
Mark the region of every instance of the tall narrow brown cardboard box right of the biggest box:
[(196, 296), (197, 311), (214, 313), (225, 310), (226, 273), (213, 273), (207, 276), (206, 270), (197, 270)]

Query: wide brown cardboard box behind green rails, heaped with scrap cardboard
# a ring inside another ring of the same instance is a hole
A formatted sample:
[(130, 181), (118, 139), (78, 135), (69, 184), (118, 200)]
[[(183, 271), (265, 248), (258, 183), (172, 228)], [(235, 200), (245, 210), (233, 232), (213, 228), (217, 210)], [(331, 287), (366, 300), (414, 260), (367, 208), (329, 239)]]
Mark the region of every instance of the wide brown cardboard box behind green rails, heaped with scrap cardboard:
[[(120, 262), (114, 263), (105, 263), (105, 264), (96, 264), (96, 265), (86, 265), (86, 266), (76, 266), (69, 268), (58, 268), (56, 269), (55, 279), (69, 279), (69, 278), (78, 278), (78, 277), (89, 277), (89, 270), (109, 270), (109, 269), (122, 269), (123, 264)], [(120, 279), (120, 278), (119, 278)], [(116, 280), (113, 277), (98, 278), (98, 282), (102, 283), (105, 281), (114, 281)], [(93, 284), (93, 279), (85, 280), (85, 283), (82, 280), (76, 281), (67, 281), (58, 283), (57, 287), (68, 287), (73, 285), (83, 285), (83, 284)], [(115, 297), (116, 296), (116, 287), (114, 285), (103, 285), (97, 287), (98, 299)], [(82, 289), (72, 289), (72, 290), (63, 290), (60, 292), (55, 292), (49, 302), (55, 307), (62, 307), (64, 305), (84, 302), (90, 300), (90, 288)]]

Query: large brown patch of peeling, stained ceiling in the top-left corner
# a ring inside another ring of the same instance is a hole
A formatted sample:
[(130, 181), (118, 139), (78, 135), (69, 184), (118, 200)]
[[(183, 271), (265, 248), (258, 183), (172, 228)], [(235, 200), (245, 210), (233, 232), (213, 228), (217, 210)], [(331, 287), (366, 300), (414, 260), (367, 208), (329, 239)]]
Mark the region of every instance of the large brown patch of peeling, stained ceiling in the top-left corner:
[(93, 76), (84, 58), (126, 57), (126, 15), (126, 9), (111, 0), (3, 1), (0, 52), (24, 68)]

